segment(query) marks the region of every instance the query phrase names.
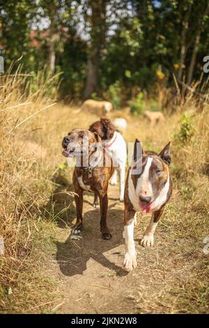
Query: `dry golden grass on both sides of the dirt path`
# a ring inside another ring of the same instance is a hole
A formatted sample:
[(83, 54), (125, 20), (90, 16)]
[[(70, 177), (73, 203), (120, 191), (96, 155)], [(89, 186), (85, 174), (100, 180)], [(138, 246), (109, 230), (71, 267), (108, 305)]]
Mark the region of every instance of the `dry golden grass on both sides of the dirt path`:
[[(59, 192), (57, 172), (61, 170), (66, 179), (71, 174), (63, 166), (61, 140), (71, 128), (88, 128), (98, 119), (78, 113), (76, 107), (49, 107), (54, 101), (43, 97), (42, 90), (31, 94), (31, 87), (24, 89), (24, 78), (1, 77), (0, 86), (0, 235), (6, 249), (0, 255), (1, 313), (44, 312), (54, 307), (56, 283), (40, 272), (54, 248), (56, 218), (66, 222), (69, 215), (68, 204), (55, 213), (50, 201)], [(174, 190), (159, 232), (169, 247), (167, 270), (172, 268), (173, 281), (160, 296), (162, 313), (208, 312), (208, 255), (202, 248), (203, 238), (209, 236), (209, 115), (207, 105), (200, 112), (192, 104), (188, 98), (183, 109), (167, 118), (167, 124), (152, 129), (141, 117), (128, 117), (124, 134), (127, 142), (138, 137), (145, 149), (155, 151), (172, 140)], [(182, 110), (189, 112), (195, 128), (189, 142), (178, 139)], [(180, 264), (187, 267), (184, 285), (176, 282)], [(156, 297), (157, 304), (160, 297)], [(172, 306), (170, 299), (176, 299)], [(149, 308), (149, 303), (141, 303), (139, 311), (146, 313)]]

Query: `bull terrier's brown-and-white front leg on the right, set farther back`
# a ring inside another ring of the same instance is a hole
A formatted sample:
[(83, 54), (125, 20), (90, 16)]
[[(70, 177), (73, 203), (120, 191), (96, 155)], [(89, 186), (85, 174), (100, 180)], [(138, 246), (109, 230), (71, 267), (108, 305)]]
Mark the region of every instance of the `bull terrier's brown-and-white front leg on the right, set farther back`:
[(153, 246), (154, 244), (154, 232), (157, 227), (157, 223), (160, 220), (160, 216), (162, 215), (163, 209), (159, 209), (158, 211), (153, 212), (151, 219), (150, 219), (150, 224), (146, 228), (144, 232), (144, 236), (141, 239), (141, 246), (143, 247), (149, 247)]

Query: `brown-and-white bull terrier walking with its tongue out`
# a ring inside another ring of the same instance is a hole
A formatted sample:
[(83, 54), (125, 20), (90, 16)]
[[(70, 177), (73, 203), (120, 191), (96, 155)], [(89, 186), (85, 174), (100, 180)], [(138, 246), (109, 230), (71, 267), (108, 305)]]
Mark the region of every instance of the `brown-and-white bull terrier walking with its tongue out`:
[(170, 142), (156, 154), (143, 151), (141, 142), (134, 143), (132, 166), (127, 172), (125, 183), (125, 260), (127, 271), (137, 267), (137, 253), (134, 245), (134, 223), (136, 213), (152, 213), (150, 223), (141, 239), (141, 246), (153, 246), (153, 234), (160, 220), (164, 206), (172, 193), (172, 180), (169, 173), (171, 163)]

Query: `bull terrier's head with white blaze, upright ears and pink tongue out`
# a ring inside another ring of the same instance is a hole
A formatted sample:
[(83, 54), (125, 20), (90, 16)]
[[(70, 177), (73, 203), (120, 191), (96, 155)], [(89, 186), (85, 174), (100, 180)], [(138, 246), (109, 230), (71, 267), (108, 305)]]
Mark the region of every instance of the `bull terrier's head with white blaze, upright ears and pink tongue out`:
[[(144, 213), (155, 210), (166, 197), (169, 189), (169, 164), (171, 155), (169, 151), (170, 142), (155, 154), (153, 151), (144, 152), (141, 142), (135, 141), (133, 169), (137, 167), (136, 174), (131, 178), (137, 197), (139, 197), (139, 207)], [(132, 170), (134, 173), (134, 170)], [(164, 198), (163, 198), (164, 199)]]

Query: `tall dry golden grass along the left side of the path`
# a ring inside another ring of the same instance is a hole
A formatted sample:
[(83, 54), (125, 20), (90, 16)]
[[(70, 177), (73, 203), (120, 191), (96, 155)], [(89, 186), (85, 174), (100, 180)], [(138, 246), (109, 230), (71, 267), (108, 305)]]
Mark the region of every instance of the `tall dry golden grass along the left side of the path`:
[(21, 74), (20, 66), (14, 75), (10, 70), (0, 77), (0, 237), (5, 248), (0, 255), (0, 309), (21, 312), (41, 300), (40, 295), (36, 299), (41, 285), (47, 290), (47, 283), (38, 278), (40, 254), (35, 246), (42, 230), (37, 220), (39, 195), (34, 191), (42, 149), (30, 138), (40, 129), (38, 116), (54, 100), (47, 96), (52, 77), (38, 85)]

